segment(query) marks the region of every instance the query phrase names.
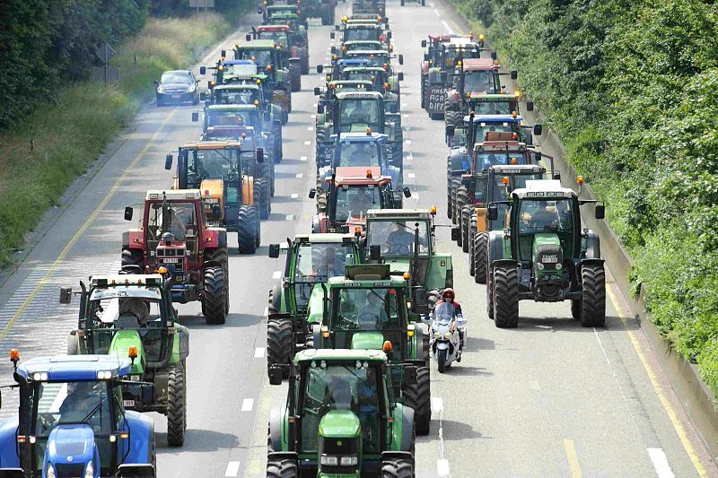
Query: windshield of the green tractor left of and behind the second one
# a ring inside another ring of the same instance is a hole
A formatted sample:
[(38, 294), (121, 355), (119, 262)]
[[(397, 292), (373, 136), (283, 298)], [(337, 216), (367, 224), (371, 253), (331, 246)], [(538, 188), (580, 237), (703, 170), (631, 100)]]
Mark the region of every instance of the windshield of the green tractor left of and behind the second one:
[(344, 275), (346, 265), (356, 264), (354, 248), (341, 242), (324, 244), (302, 243), (294, 266), (294, 296), (297, 309), (307, 309), (315, 282), (327, 282), (329, 277)]

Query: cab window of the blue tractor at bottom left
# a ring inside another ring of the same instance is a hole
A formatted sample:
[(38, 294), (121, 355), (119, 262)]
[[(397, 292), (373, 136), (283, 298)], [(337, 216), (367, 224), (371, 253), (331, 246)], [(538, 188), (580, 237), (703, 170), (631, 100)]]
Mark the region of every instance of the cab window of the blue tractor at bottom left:
[[(109, 471), (112, 465), (109, 435), (115, 429), (117, 419), (112, 416), (112, 391), (109, 382), (39, 382), (31, 386), (31, 404), (33, 415), (31, 433), (36, 439), (34, 463), (39, 468), (44, 463), (48, 437), (52, 430), (62, 428), (66, 430), (66, 437), (69, 438), (73, 433), (76, 434), (73, 429), (77, 426), (87, 425), (94, 432), (95, 444), (100, 452), (101, 469)], [(70, 447), (72, 443), (67, 443), (66, 446)], [(56, 453), (61, 452), (56, 450)], [(79, 453), (66, 453), (66, 455), (77, 454)], [(66, 469), (62, 470), (57, 464), (57, 474), (60, 476), (83, 474), (83, 464), (80, 464), (79, 470), (73, 466), (66, 464)]]

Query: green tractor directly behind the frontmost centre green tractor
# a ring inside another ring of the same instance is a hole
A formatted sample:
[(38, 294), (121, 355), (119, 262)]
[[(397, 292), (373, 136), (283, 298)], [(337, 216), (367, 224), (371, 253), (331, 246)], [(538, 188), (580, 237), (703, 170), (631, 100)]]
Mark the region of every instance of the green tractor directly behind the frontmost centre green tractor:
[[(383, 350), (389, 358), (393, 395), (415, 411), (416, 433), (426, 435), (432, 418), (429, 330), (412, 320), (407, 279), (390, 265), (347, 265), (311, 291), (307, 322), (318, 349)], [(407, 370), (416, 380), (407, 380)]]

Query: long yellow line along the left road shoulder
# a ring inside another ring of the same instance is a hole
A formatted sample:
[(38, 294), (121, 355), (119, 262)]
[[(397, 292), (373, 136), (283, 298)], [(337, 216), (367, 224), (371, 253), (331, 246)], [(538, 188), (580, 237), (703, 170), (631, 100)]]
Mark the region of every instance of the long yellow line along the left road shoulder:
[(129, 163), (129, 166), (127, 166), (127, 169), (125, 169), (122, 172), (122, 176), (120, 176), (117, 179), (117, 181), (115, 181), (115, 184), (112, 185), (112, 187), (109, 189), (109, 193), (102, 199), (100, 204), (97, 205), (95, 210), (92, 211), (92, 214), (90, 214), (90, 216), (87, 218), (87, 220), (83, 223), (82, 227), (80, 229), (78, 229), (77, 232), (74, 233), (74, 236), (72, 237), (72, 239), (70, 239), (69, 242), (67, 242), (65, 248), (62, 249), (59, 256), (57, 256), (57, 259), (55, 259), (55, 262), (48, 269), (48, 272), (42, 276), (42, 279), (40, 279), (40, 281), (38, 282), (38, 285), (35, 286), (35, 288), (31, 291), (30, 295), (28, 295), (28, 298), (22, 302), (22, 305), (20, 306), (19, 309), (17, 309), (17, 312), (15, 312), (15, 314), (10, 319), (10, 321), (7, 323), (7, 325), (4, 326), (2, 331), (0, 331), (0, 340), (3, 340), (5, 335), (7, 335), (13, 329), (13, 326), (14, 326), (15, 322), (17, 321), (17, 319), (20, 318), (20, 316), (22, 316), (25, 309), (27, 309), (28, 306), (32, 303), (32, 301), (35, 300), (35, 298), (39, 294), (39, 291), (41, 291), (42, 288), (45, 287), (45, 285), (48, 283), (48, 279), (50, 278), (50, 276), (52, 276), (52, 274), (54, 274), (55, 271), (57, 270), (57, 266), (60, 265), (60, 263), (65, 260), (65, 257), (67, 256), (67, 254), (69, 254), (70, 249), (73, 248), (74, 243), (77, 242), (77, 240), (80, 239), (81, 236), (83, 236), (85, 230), (87, 230), (87, 228), (90, 227), (90, 224), (97, 218), (98, 214), (100, 214), (102, 209), (104, 209), (105, 206), (109, 203), (109, 200), (112, 199), (113, 196), (115, 196), (115, 193), (117, 193), (120, 185), (127, 178), (127, 173), (130, 171), (130, 169), (135, 168), (137, 162), (139, 162), (140, 159), (142, 159), (144, 154), (147, 152), (147, 150), (150, 149), (150, 146), (152, 146), (153, 143), (156, 141), (157, 136), (160, 135), (162, 128), (167, 124), (168, 121), (170, 121), (171, 117), (173, 117), (176, 112), (177, 112), (177, 109), (172, 109), (171, 113), (167, 117), (164, 118), (164, 120), (160, 124), (160, 127), (157, 128), (157, 131), (152, 136), (152, 139), (150, 139), (150, 141), (144, 145), (144, 148), (142, 148), (142, 151), (137, 153), (135, 159), (132, 160), (132, 162)]

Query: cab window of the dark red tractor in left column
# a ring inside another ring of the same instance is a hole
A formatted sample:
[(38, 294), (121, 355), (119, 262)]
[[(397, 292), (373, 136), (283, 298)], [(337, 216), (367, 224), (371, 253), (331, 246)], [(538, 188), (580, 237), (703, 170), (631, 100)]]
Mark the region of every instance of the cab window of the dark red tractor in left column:
[(195, 203), (171, 202), (151, 203), (147, 211), (147, 245), (150, 256), (162, 239), (162, 234), (171, 232), (174, 240), (185, 242), (190, 261), (197, 261), (197, 212)]

